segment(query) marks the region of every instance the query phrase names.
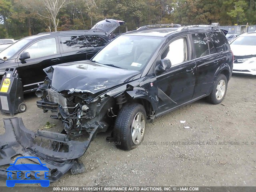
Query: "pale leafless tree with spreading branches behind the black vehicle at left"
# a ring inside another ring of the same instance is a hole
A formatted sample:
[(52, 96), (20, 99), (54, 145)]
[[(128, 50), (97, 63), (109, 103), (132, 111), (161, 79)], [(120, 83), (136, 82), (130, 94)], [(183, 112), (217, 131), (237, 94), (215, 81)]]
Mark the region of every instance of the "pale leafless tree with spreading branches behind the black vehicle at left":
[(45, 9), (48, 12), (48, 16), (43, 16), (39, 14), (40, 16), (44, 18), (48, 18), (49, 20), (52, 20), (52, 23), (54, 25), (55, 31), (57, 31), (57, 26), (59, 23), (59, 19), (56, 22), (57, 15), (60, 12), (60, 9), (67, 4), (71, 3), (70, 0), (42, 0)]

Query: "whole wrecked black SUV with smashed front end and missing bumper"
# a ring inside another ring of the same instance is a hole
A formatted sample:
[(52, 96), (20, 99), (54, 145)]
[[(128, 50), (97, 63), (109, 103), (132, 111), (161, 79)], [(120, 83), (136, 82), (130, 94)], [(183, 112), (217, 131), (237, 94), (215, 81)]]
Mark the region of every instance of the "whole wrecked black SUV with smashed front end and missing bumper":
[(118, 148), (142, 141), (147, 120), (207, 97), (219, 104), (233, 68), (226, 31), (154, 28), (123, 34), (91, 60), (45, 68), (37, 106), (68, 136), (113, 127)]

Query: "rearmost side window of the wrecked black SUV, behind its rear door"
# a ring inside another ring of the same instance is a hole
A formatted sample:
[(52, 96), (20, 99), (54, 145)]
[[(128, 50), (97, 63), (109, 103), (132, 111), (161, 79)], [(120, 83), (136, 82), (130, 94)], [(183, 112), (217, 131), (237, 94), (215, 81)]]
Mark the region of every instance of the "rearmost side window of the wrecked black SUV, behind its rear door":
[(218, 53), (230, 50), (230, 45), (226, 36), (222, 32), (208, 32)]

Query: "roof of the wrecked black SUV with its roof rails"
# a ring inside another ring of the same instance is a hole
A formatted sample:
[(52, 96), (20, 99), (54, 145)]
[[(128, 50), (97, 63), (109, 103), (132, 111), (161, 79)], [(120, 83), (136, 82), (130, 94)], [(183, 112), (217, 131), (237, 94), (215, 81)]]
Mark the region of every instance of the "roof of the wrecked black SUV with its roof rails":
[(156, 37), (167, 37), (173, 34), (174, 32), (210, 32), (210, 31), (220, 31), (218, 28), (155, 28), (155, 29), (145, 29), (145, 30), (135, 30), (127, 32), (127, 35), (138, 35), (138, 36), (156, 36)]

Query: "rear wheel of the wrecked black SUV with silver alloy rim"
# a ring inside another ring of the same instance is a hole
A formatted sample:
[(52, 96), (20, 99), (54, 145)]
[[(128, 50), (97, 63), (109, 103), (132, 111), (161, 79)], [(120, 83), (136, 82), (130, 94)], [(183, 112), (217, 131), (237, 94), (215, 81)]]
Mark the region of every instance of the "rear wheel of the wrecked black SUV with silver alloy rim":
[(214, 83), (212, 92), (208, 96), (208, 100), (212, 104), (220, 104), (224, 99), (228, 88), (228, 80), (224, 74), (219, 74)]

